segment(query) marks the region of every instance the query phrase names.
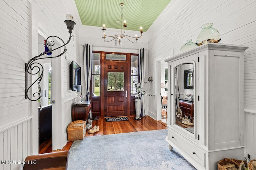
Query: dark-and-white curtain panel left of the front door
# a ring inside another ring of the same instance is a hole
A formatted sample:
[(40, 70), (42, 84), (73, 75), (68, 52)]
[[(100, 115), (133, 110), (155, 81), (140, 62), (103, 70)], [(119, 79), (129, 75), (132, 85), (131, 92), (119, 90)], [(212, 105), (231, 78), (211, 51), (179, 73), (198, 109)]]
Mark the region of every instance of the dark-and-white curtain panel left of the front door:
[(84, 44), (84, 78), (86, 100), (90, 100), (90, 84), (92, 77), (92, 45)]

